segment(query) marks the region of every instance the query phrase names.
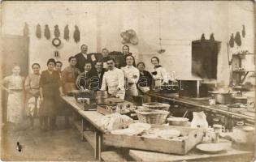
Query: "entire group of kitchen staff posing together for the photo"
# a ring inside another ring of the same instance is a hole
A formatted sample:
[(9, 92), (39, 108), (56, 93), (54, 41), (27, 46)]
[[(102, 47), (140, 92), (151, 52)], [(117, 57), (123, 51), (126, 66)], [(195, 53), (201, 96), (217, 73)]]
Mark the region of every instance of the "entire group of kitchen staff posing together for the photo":
[[(20, 76), (20, 66), (15, 65), (12, 75), (3, 79), (2, 88), (8, 92), (7, 122), (18, 124), (29, 118), (29, 129), (34, 128), (34, 118), (40, 118), (41, 130), (56, 128), (56, 115), (63, 111), (60, 96), (73, 90), (107, 91), (111, 96), (132, 101), (152, 87), (169, 82), (167, 70), (159, 65), (159, 58), (151, 58), (154, 70), (145, 70), (145, 63), (135, 64), (128, 45), (123, 46), (124, 60), (118, 63), (108, 49), (102, 49), (101, 57), (88, 53), (88, 46), (81, 45), (80, 53), (68, 58), (69, 66), (62, 70), (63, 63), (50, 58), (47, 70), (33, 63), (33, 73), (26, 79)], [(26, 94), (26, 95), (25, 95)], [(24, 102), (25, 100), (25, 102)], [(25, 108), (25, 109), (24, 109)], [(68, 116), (65, 116), (68, 126)]]

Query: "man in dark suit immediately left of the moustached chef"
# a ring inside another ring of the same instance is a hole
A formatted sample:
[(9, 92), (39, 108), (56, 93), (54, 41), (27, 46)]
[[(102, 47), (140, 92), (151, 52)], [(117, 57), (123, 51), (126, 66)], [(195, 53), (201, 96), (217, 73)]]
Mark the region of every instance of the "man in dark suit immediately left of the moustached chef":
[(90, 78), (91, 90), (100, 91), (104, 72), (103, 62), (96, 62), (95, 70), (92, 71), (92, 77)]

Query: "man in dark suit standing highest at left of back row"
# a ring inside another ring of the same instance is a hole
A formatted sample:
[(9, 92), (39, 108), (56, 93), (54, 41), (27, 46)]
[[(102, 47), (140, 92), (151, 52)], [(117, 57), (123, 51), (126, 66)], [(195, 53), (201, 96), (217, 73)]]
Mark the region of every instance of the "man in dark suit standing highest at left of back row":
[(80, 71), (84, 71), (84, 67), (85, 67), (85, 63), (86, 62), (90, 62), (92, 64), (92, 66), (95, 65), (96, 62), (96, 58), (94, 56), (94, 54), (90, 54), (88, 53), (88, 46), (87, 45), (81, 45), (81, 52), (77, 53), (76, 56), (76, 67), (80, 70)]

